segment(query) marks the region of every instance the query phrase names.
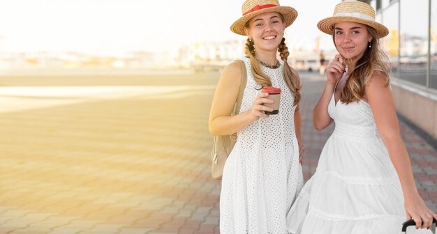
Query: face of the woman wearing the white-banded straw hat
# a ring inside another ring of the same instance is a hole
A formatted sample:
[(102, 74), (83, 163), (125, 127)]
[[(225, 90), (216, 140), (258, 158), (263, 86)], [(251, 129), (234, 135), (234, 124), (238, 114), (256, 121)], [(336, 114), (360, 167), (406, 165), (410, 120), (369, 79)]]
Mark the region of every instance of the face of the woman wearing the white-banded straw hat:
[(354, 63), (360, 59), (372, 40), (367, 26), (355, 22), (342, 22), (334, 26), (334, 43), (339, 53)]

